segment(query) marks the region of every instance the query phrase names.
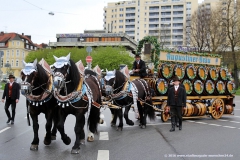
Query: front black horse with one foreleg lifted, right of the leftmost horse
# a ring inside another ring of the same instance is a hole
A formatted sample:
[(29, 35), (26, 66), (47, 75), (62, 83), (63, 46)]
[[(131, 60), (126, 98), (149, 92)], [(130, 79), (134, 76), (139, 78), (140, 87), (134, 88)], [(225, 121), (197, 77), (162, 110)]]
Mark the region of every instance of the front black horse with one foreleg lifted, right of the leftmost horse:
[[(85, 143), (85, 113), (88, 112), (88, 141), (94, 140), (94, 133), (97, 132), (97, 124), (100, 120), (101, 90), (96, 77), (87, 75), (85, 78), (79, 73), (75, 63), (67, 57), (55, 57), (54, 64), (54, 96), (59, 105), (58, 131), (62, 140), (69, 145), (71, 139), (65, 134), (64, 122), (68, 114), (76, 117), (75, 134), (76, 141), (71, 153), (78, 154), (80, 144)], [(64, 64), (61, 64), (64, 63)], [(89, 106), (90, 105), (90, 106)]]

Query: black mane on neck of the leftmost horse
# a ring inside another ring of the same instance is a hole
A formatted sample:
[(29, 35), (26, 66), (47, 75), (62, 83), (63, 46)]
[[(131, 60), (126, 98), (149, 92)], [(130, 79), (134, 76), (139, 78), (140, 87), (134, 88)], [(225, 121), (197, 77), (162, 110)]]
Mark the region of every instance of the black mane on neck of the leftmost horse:
[[(38, 87), (44, 83), (47, 83), (48, 82), (48, 75), (46, 73), (46, 71), (44, 70), (44, 68), (40, 65), (40, 64), (37, 64), (37, 75), (33, 81), (33, 86), (34, 87)], [(45, 84), (42, 86), (42, 88), (46, 88), (48, 84)], [(38, 94), (41, 94), (43, 92), (43, 89), (41, 87), (34, 90), (33, 91), (33, 94), (34, 95), (38, 95)]]

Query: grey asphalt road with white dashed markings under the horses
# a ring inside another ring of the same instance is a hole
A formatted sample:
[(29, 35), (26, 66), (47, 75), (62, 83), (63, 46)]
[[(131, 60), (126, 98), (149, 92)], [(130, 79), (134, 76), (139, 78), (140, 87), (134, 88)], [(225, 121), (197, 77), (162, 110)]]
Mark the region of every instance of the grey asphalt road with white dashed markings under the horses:
[[(235, 115), (219, 120), (210, 117), (185, 120), (183, 130), (169, 132), (170, 121), (160, 118), (140, 129), (130, 112), (135, 126), (124, 124), (123, 131), (110, 126), (110, 111), (103, 110), (105, 121), (99, 126), (94, 142), (81, 146), (80, 154), (70, 154), (75, 141), (75, 118), (70, 115), (65, 123), (66, 133), (72, 142), (66, 146), (59, 133), (56, 141), (45, 146), (45, 118), (39, 116), (40, 144), (38, 151), (30, 151), (33, 139), (32, 126), (27, 125), (25, 98), (17, 104), (15, 124), (6, 124), (4, 104), (0, 103), (0, 160), (161, 160), (161, 159), (240, 159), (240, 97), (235, 99)], [(220, 158), (221, 157), (221, 158)]]

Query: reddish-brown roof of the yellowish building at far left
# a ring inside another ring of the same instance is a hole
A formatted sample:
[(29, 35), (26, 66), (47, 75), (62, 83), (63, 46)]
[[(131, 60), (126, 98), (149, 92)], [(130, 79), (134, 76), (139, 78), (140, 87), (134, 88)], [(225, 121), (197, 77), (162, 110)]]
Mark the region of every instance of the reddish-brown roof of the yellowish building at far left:
[(22, 40), (25, 39), (29, 44), (36, 46), (28, 36), (20, 35), (18, 33), (0, 33), (0, 43), (7, 43), (9, 40)]

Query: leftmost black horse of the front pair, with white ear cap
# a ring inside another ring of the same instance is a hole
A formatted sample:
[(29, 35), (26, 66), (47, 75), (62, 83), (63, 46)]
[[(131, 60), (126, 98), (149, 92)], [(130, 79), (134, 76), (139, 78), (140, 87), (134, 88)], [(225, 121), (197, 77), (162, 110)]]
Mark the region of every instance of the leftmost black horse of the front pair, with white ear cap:
[[(30, 150), (38, 150), (38, 115), (45, 114), (46, 118), (46, 135), (44, 144), (51, 144), (51, 140), (56, 139), (56, 100), (53, 97), (51, 75), (44, 70), (44, 68), (34, 63), (24, 63), (24, 69), (21, 71), (21, 93), (26, 97), (28, 113), (32, 118), (34, 138)], [(29, 118), (29, 117), (28, 117)], [(29, 120), (29, 119), (28, 119)], [(52, 129), (52, 122), (54, 126)], [(30, 124), (29, 124), (30, 125)], [(52, 129), (52, 131), (51, 131)]]

